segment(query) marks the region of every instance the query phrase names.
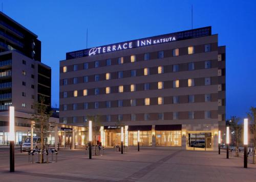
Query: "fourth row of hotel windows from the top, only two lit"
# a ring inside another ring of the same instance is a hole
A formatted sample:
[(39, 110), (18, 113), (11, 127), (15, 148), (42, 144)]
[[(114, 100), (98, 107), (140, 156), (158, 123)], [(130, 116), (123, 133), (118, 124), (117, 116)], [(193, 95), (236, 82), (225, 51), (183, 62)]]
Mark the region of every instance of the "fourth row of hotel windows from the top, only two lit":
[[(173, 102), (172, 103), (180, 103), (180, 96), (173, 96)], [(137, 106), (136, 104), (136, 100), (137, 99), (130, 99), (130, 103), (131, 106)], [(144, 98), (144, 106), (150, 106), (151, 98)], [(117, 106), (118, 107), (123, 107), (123, 100), (116, 100), (117, 101)], [(204, 101), (205, 102), (210, 102), (211, 101), (211, 94), (205, 94), (204, 95)], [(105, 101), (105, 107), (106, 108), (111, 108), (111, 102), (113, 103), (113, 101)], [(195, 95), (188, 95), (188, 103), (193, 103), (195, 102)], [(157, 104), (158, 105), (164, 105), (164, 97), (157, 97)], [(99, 108), (99, 102), (95, 101), (94, 102), (94, 109), (98, 109)], [(83, 109), (87, 110), (89, 109), (89, 103), (88, 102), (84, 102), (83, 103)], [(63, 105), (63, 111), (67, 111), (68, 110), (68, 105)], [(78, 103), (73, 103), (73, 110), (78, 110)]]

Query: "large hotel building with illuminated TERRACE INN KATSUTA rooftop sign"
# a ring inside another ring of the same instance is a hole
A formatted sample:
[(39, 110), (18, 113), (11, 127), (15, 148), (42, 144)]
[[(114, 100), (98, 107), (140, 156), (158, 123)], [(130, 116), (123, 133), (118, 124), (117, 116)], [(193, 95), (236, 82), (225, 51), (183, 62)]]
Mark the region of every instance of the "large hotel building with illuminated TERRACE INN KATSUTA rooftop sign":
[(216, 149), (225, 125), (225, 46), (205, 27), (67, 53), (59, 109), (63, 124), (86, 126), (97, 116), (104, 146), (120, 144), (123, 125), (128, 146), (139, 131), (144, 146), (204, 141)]

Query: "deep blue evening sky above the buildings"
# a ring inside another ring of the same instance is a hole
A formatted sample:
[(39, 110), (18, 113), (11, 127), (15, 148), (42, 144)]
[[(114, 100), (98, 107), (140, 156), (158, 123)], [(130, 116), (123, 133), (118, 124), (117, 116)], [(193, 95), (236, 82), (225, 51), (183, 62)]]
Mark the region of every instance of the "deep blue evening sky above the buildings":
[[(8, 16), (38, 35), (42, 62), (52, 67), (52, 106), (59, 102), (59, 61), (66, 52), (212, 26), (226, 45), (227, 115), (256, 107), (256, 1), (0, 0)], [(0, 7), (2, 10), (2, 7)]]

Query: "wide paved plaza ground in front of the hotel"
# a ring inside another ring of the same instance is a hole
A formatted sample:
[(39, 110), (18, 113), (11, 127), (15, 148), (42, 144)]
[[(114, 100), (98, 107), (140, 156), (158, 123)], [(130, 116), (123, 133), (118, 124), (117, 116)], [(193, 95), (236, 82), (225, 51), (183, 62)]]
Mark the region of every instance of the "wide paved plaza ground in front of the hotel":
[[(241, 153), (242, 154), (242, 153)], [(226, 159), (225, 150), (191, 151), (167, 147), (130, 147), (120, 154), (106, 148), (92, 156), (84, 149), (59, 151), (58, 162), (28, 163), (28, 154), (15, 152), (15, 172), (9, 172), (9, 152), (0, 151), (0, 181), (255, 181), (256, 165), (243, 158)], [(50, 158), (51, 159), (51, 158)], [(35, 158), (37, 160), (37, 157)]]

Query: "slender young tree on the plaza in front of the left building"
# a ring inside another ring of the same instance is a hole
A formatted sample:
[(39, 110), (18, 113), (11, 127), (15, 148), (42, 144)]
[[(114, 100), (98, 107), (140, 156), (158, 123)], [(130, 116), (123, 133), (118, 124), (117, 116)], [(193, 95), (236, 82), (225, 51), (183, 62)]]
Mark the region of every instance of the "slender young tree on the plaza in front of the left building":
[[(47, 111), (47, 106), (44, 104), (45, 97), (40, 97), (39, 102), (34, 103), (34, 114), (32, 115), (32, 120), (35, 121), (35, 125), (38, 126), (37, 128), (40, 133), (41, 137), (41, 150), (43, 152), (44, 149), (44, 141), (47, 137), (47, 132), (49, 129), (49, 118), (52, 115), (52, 112)], [(31, 140), (33, 140), (33, 136), (31, 136)], [(44, 163), (44, 155), (41, 154), (40, 163)]]

